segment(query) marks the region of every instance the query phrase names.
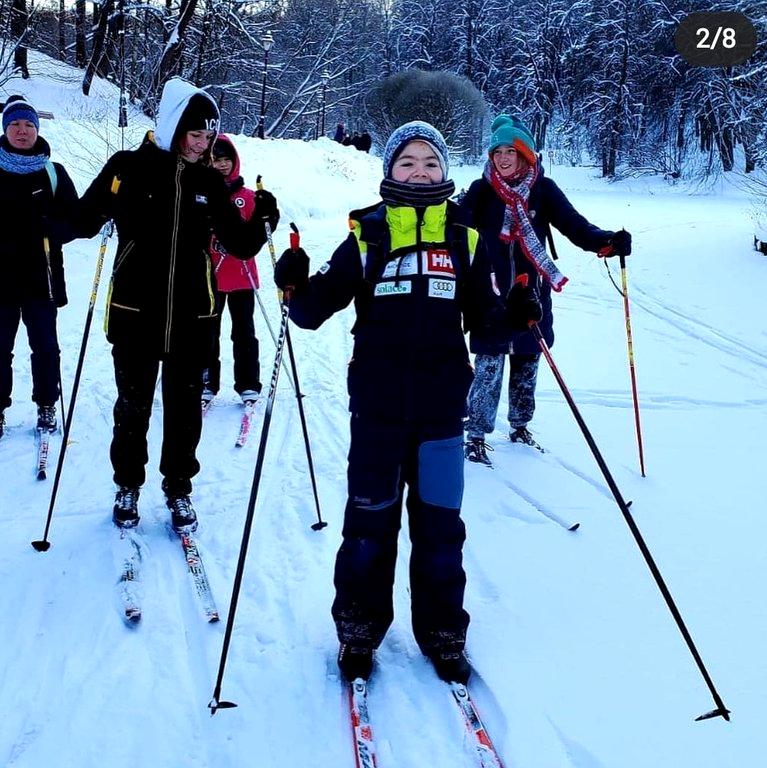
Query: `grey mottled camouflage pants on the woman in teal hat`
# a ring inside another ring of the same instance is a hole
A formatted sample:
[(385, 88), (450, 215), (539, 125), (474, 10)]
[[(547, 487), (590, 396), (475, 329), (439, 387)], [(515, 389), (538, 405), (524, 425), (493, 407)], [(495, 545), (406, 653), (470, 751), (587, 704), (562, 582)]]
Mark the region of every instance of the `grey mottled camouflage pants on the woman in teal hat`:
[[(484, 437), (495, 430), (501, 400), (503, 364), (506, 355), (477, 355), (474, 383), (469, 392), (469, 438)], [(524, 427), (535, 412), (535, 382), (540, 355), (509, 355), (509, 425)]]

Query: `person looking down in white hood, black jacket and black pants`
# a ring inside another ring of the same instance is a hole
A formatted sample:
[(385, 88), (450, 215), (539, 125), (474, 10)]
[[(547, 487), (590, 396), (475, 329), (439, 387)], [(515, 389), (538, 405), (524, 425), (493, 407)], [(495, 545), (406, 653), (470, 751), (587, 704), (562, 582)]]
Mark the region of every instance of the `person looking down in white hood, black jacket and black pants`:
[(138, 525), (147, 430), (162, 367), (162, 487), (177, 532), (197, 516), (189, 497), (200, 465), (202, 372), (217, 321), (211, 233), (238, 258), (264, 244), (263, 220), (242, 220), (221, 174), (208, 165), (219, 129), (215, 101), (180, 78), (162, 91), (157, 128), (114, 154), (81, 200), (84, 236), (109, 219), (118, 232), (105, 327), (117, 402), (111, 459), (116, 525)]

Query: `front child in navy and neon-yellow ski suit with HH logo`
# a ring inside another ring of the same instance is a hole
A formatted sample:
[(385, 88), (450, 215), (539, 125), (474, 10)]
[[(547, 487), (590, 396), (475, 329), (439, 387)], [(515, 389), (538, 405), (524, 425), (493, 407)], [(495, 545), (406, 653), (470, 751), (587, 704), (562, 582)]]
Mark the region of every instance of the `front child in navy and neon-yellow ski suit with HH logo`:
[[(414, 121), (390, 136), (382, 202), (352, 211), (352, 232), (311, 278), (303, 250), (274, 272), (292, 288), (290, 317), (316, 329), (354, 301), (348, 368), (351, 446), (332, 614), (339, 667), (367, 679), (393, 620), (405, 485), (413, 632), (444, 680), (465, 682), (463, 423), (472, 379), (464, 323), (494, 297), (477, 233), (449, 198), (448, 151)], [(498, 300), (500, 303), (500, 300)]]

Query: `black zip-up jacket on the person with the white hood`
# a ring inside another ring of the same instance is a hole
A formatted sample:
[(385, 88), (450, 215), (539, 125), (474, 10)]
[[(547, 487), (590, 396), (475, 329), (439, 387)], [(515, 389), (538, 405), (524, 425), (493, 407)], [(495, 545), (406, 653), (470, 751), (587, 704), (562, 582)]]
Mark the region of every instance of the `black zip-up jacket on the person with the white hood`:
[(266, 241), (256, 218), (243, 222), (218, 171), (160, 149), (150, 132), (118, 152), (83, 195), (83, 234), (108, 219), (118, 232), (105, 327), (113, 344), (163, 355), (207, 354), (216, 316), (211, 233), (238, 258)]

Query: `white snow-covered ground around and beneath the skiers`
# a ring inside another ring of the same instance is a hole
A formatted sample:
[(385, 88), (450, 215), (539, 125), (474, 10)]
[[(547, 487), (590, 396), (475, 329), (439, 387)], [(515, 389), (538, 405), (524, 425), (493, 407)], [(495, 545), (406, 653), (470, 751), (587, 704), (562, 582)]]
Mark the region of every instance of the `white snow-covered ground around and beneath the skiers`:
[[(8, 83), (56, 115), (41, 133), (83, 191), (119, 147), (116, 98), (33, 57), (33, 79)], [(143, 133), (132, 116), (126, 143)], [(376, 199), (379, 161), (328, 140), (237, 137), (246, 180), (263, 174), (318, 267), (346, 233), (346, 213)], [(459, 168), (458, 186), (477, 168)], [(533, 428), (544, 455), (491, 442), (495, 466), (466, 467), (468, 652), (473, 691), (507, 767), (757, 768), (767, 737), (765, 433), (767, 259), (751, 250), (752, 201), (735, 187), (691, 194), (660, 180), (609, 185), (590, 169), (549, 169), (588, 218), (634, 234), (628, 260), (647, 477), (638, 471), (621, 297), (604, 264), (557, 238), (570, 277), (556, 297), (553, 354), (666, 579), (719, 693), (714, 708), (559, 388), (541, 363)], [(5, 222), (12, 226), (12, 222)], [(555, 235), (556, 237), (556, 235)], [(108, 274), (115, 243), (109, 248)], [(65, 397), (80, 348), (98, 243), (66, 249), (70, 304), (60, 314)], [(276, 324), (268, 253), (262, 298)], [(618, 265), (610, 267), (619, 282)], [(223, 698), (210, 717), (223, 622), (200, 617), (181, 549), (168, 536), (150, 430), (141, 496), (144, 618), (127, 628), (116, 594), (108, 446), (114, 397), (100, 330), (85, 360), (71, 444), (40, 554), (51, 481), (34, 478), (28, 350), (17, 340), (15, 401), (0, 441), (0, 765), (8, 768), (322, 768), (353, 765), (330, 619), (345, 499), (345, 369), (351, 311), (318, 332), (294, 329), (301, 386), (328, 527), (310, 530), (311, 487), (295, 400), (283, 378)], [(273, 347), (260, 317), (268, 380)], [(228, 331), (224, 330), (224, 338)], [(224, 349), (223, 390), (206, 417), (195, 482), (199, 543), (224, 615), (240, 546), (259, 430), (233, 447), (239, 406)], [(259, 411), (263, 414), (263, 405)], [(52, 443), (55, 466), (60, 438)], [(52, 472), (50, 473), (52, 475)], [(571, 533), (551, 516), (581, 523)], [(409, 628), (406, 534), (395, 624), (370, 685), (380, 768), (472, 766), (449, 692)]]

